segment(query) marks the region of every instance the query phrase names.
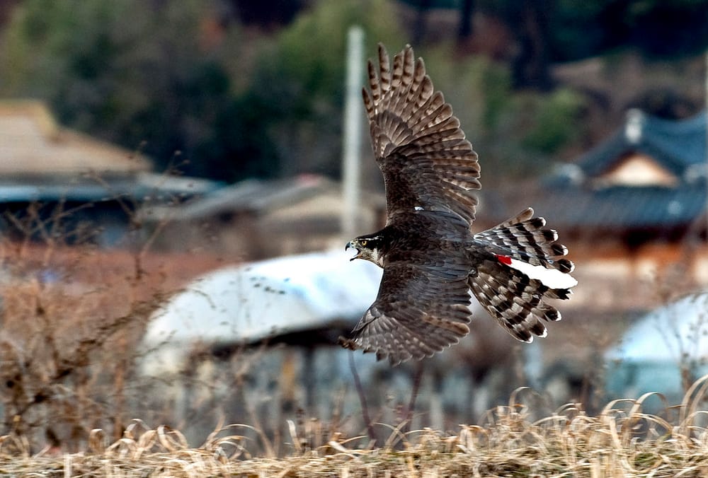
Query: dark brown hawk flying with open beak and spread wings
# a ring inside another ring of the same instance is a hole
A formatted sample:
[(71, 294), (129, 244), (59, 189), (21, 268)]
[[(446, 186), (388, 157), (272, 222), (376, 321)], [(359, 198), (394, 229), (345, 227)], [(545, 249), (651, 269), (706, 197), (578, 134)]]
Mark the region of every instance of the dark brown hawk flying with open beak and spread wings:
[(368, 66), (364, 105), (387, 221), (346, 249), (384, 272), (376, 300), (341, 344), (392, 365), (432, 356), (469, 332), (472, 295), (516, 339), (544, 337), (544, 322), (561, 320), (548, 299), (569, 298), (577, 284), (568, 249), (531, 208), (472, 233), (477, 154), (423, 59), (406, 45), (391, 65), (379, 44), (378, 72)]

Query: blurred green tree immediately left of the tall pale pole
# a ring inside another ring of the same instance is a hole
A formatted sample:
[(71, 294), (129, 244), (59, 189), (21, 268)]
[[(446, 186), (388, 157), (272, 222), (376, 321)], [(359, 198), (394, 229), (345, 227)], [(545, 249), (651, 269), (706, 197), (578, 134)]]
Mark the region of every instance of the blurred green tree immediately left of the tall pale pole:
[(249, 101), (269, 106), (267, 129), (282, 175), (338, 175), (346, 33), (361, 25), (370, 54), (376, 42), (397, 49), (405, 40), (395, 18), (392, 4), (384, 0), (321, 1), (264, 49), (249, 85)]

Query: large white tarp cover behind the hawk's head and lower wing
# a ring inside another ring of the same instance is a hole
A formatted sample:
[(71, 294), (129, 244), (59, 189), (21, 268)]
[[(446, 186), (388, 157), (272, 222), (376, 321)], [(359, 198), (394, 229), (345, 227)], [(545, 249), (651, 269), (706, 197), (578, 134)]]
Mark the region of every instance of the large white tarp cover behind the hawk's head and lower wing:
[(376, 298), (382, 269), (350, 252), (314, 252), (225, 267), (195, 279), (158, 310), (144, 344), (252, 343), (355, 323)]

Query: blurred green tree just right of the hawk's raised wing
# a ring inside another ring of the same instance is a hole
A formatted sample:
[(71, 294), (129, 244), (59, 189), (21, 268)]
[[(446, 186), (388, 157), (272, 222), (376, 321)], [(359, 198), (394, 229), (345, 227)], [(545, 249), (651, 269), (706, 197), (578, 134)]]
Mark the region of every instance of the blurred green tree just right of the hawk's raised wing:
[(435, 88), (445, 92), (478, 151), (484, 185), (544, 174), (554, 157), (583, 134), (583, 96), (566, 88), (515, 91), (510, 66), (457, 56), (440, 45), (419, 49)]

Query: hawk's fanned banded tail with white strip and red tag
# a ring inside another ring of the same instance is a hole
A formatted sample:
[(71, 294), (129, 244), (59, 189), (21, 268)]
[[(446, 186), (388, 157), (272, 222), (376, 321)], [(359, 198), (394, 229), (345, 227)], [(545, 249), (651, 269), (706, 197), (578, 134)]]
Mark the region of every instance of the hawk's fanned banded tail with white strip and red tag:
[(568, 248), (558, 233), (528, 208), (508, 221), (474, 235), (476, 268), (468, 284), (481, 305), (516, 339), (545, 337), (545, 321), (561, 320), (547, 299), (567, 299), (578, 284), (570, 275)]

